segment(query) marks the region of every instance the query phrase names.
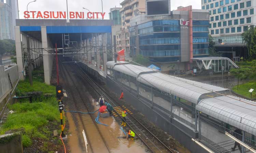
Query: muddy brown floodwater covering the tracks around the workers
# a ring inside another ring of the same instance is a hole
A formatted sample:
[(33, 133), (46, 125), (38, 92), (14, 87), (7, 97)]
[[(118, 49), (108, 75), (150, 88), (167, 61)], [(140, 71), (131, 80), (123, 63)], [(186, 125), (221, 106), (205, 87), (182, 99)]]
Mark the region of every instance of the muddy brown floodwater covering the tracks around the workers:
[[(99, 109), (99, 104), (97, 100), (94, 100), (88, 92), (86, 92), (90, 103), (94, 106), (95, 111)], [(98, 113), (93, 114), (94, 119), (97, 117)], [(73, 116), (73, 117), (72, 117)], [(69, 120), (69, 135), (68, 135), (68, 145), (70, 147), (71, 153), (85, 153), (85, 144), (82, 136), (82, 130), (86, 131), (87, 139), (90, 141), (90, 145), (88, 145), (88, 152), (91, 153), (91, 148), (95, 153), (102, 152), (105, 145), (101, 144), (102, 141), (99, 141), (101, 138), (99, 137), (99, 133), (96, 130), (95, 125), (93, 125), (91, 121), (91, 117), (88, 114), (82, 115), (82, 120), (86, 124), (85, 128), (81, 124), (81, 120), (79, 118), (79, 114), (75, 113), (66, 113), (66, 117)], [(75, 120), (75, 118), (77, 120)], [(111, 153), (131, 153), (131, 152), (139, 152), (139, 153), (147, 153), (148, 148), (144, 145), (144, 143), (140, 139), (130, 140), (123, 139), (118, 137), (125, 136), (124, 132), (120, 129), (120, 125), (115, 121), (114, 117), (105, 117), (99, 118), (101, 123), (104, 123), (109, 126), (99, 125), (99, 130), (104, 137), (106, 144), (108, 145)], [(81, 142), (83, 142), (81, 144)]]

